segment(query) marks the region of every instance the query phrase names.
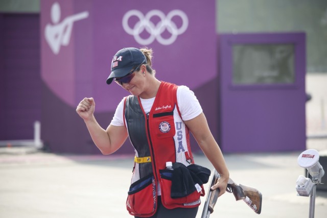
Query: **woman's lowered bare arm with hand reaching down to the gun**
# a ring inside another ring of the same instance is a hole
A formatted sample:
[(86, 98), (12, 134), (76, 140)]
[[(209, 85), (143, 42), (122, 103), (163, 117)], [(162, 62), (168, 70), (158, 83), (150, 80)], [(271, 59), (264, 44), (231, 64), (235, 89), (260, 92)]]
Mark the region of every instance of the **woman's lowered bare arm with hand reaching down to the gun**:
[(219, 196), (221, 196), (226, 191), (229, 172), (223, 154), (208, 127), (204, 114), (201, 113), (193, 119), (184, 121), (184, 123), (189, 127), (205, 156), (220, 174), (220, 179), (212, 189), (219, 188)]

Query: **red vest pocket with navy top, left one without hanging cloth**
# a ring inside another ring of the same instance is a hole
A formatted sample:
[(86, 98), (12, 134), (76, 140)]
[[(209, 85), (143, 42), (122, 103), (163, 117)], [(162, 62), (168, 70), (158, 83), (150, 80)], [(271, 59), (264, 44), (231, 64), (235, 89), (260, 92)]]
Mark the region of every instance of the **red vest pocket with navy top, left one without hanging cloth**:
[(156, 202), (156, 187), (152, 174), (131, 184), (126, 201), (130, 214), (151, 214), (155, 211)]

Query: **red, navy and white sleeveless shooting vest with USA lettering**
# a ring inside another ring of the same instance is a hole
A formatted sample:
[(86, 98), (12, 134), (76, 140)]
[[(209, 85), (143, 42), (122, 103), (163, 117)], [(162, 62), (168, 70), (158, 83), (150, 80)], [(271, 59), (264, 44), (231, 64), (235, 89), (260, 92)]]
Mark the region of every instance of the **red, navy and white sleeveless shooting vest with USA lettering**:
[(161, 187), (161, 201), (166, 208), (196, 207), (202, 191), (182, 198), (171, 198), (172, 171), (166, 162), (185, 166), (194, 163), (190, 148), (189, 129), (185, 126), (177, 104), (177, 85), (161, 82), (149, 113), (145, 113), (138, 96), (130, 95), (124, 102), (124, 123), (136, 158), (131, 186), (126, 201), (131, 215), (148, 217), (157, 209), (157, 185)]

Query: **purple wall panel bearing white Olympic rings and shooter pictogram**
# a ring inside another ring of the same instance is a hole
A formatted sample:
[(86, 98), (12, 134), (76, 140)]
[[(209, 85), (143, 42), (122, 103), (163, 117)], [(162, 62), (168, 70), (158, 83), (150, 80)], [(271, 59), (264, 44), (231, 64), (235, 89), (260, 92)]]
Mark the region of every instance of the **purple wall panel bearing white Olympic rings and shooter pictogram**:
[[(124, 7), (121, 4), (104, 0), (41, 1), (43, 141), (55, 152), (99, 153), (75, 112), (76, 106), (85, 96), (95, 98), (96, 117), (106, 128), (116, 105), (129, 94), (116, 84), (108, 86), (105, 82), (112, 56), (123, 47), (145, 44), (154, 50), (156, 77), (193, 89), (217, 136), (217, 105), (207, 99), (208, 95), (213, 98), (218, 95), (214, 91), (217, 89), (215, 1), (189, 4), (186, 0), (143, 0), (125, 1)], [(153, 32), (143, 30), (131, 35), (129, 29), (139, 21), (135, 15), (148, 21)], [(124, 17), (129, 28), (126, 23), (123, 25)], [(155, 35), (155, 26), (165, 17), (170, 18), (166, 20), (170, 26)], [(131, 151), (130, 146), (123, 146), (118, 153)]]

